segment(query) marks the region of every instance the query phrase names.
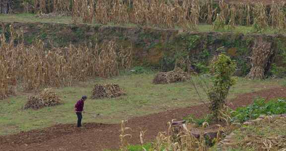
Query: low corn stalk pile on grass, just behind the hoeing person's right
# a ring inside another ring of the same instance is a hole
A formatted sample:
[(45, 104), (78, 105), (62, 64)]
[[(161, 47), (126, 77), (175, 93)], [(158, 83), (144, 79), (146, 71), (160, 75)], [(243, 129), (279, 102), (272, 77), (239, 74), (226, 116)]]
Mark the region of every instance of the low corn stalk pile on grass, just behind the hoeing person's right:
[(118, 84), (95, 84), (91, 98), (92, 99), (101, 99), (101, 98), (113, 98), (122, 95), (123, 89), (119, 87)]

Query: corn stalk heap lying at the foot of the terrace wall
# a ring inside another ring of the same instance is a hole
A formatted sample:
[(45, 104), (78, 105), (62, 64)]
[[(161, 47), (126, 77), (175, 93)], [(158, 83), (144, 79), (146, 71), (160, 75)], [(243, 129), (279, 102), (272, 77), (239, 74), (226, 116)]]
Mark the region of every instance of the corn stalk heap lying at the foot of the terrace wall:
[(189, 75), (185, 73), (180, 68), (175, 68), (173, 71), (166, 73), (159, 73), (153, 79), (153, 83), (162, 84), (162, 83), (175, 83), (180, 81), (185, 81), (189, 78)]

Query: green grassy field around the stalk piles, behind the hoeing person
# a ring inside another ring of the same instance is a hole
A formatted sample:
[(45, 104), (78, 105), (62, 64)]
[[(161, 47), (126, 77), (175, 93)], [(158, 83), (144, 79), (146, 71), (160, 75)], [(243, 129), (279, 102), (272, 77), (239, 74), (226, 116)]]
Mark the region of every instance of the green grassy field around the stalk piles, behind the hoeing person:
[[(88, 100), (85, 110), (99, 112), (106, 117), (93, 118), (84, 115), (84, 122), (118, 123), (120, 120), (135, 116), (165, 111), (166, 109), (200, 104), (199, 97), (190, 82), (160, 84), (151, 83), (154, 74), (120, 75), (109, 79), (91, 79), (78, 83), (74, 87), (54, 88), (63, 98), (64, 105), (43, 108), (40, 110), (23, 110), (27, 95), (1, 100), (0, 135), (44, 128), (57, 123), (74, 123), (73, 105), (83, 95), (90, 95), (92, 86), (97, 83), (118, 83), (127, 95), (113, 99)], [(239, 79), (231, 89), (229, 98), (239, 93), (246, 93), (279, 85), (281, 80), (249, 81)], [(201, 92), (203, 93), (203, 92)], [(204, 96), (205, 97), (205, 96)]]

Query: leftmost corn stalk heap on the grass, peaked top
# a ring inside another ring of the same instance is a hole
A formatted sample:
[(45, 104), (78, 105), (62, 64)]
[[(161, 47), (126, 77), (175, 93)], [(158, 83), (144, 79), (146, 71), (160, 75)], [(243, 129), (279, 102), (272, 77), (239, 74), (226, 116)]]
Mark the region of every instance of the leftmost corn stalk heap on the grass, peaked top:
[(38, 109), (62, 104), (61, 98), (51, 89), (44, 89), (39, 95), (30, 96), (25, 104), (25, 109)]

